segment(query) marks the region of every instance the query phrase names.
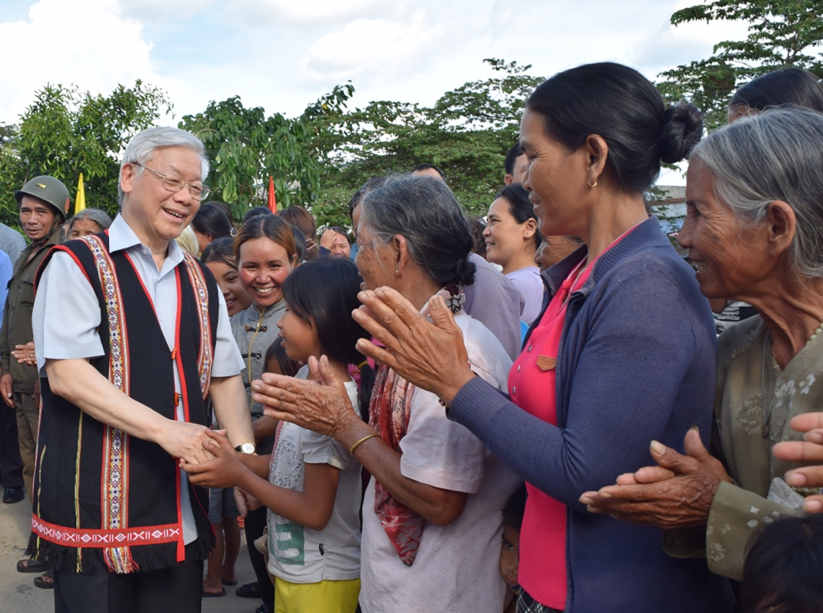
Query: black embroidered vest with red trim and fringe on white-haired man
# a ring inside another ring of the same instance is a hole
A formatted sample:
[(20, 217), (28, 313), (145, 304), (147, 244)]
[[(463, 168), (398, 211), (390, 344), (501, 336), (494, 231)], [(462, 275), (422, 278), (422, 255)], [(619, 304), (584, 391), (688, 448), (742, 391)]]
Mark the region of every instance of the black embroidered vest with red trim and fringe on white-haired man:
[[(208, 395), (217, 325), (217, 286), (212, 274), (185, 256), (177, 278), (177, 325), (170, 352), (154, 305), (125, 251), (109, 253), (109, 237), (70, 241), (57, 250), (86, 274), (100, 303), (100, 341), (105, 356), (91, 364), (137, 402), (174, 419), (176, 401), (187, 422), (207, 425)], [(176, 362), (182, 394), (174, 391)], [(184, 560), (179, 466), (160, 445), (128, 436), (82, 413), (40, 380), (43, 408), (30, 551), (54, 560), (57, 569), (109, 572), (169, 568)], [(198, 529), (198, 558), (214, 543), (208, 491), (189, 486)]]

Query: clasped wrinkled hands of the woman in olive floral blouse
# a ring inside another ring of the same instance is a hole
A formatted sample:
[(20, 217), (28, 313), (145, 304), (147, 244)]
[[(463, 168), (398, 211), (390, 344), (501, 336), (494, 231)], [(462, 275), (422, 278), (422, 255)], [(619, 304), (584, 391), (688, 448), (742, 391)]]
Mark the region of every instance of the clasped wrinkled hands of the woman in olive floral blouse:
[(617, 485), (587, 491), (580, 502), (588, 511), (657, 528), (705, 525), (720, 482), (731, 482), (723, 464), (709, 454), (696, 428), (686, 432), (686, 454), (653, 441), (658, 466), (617, 477)]

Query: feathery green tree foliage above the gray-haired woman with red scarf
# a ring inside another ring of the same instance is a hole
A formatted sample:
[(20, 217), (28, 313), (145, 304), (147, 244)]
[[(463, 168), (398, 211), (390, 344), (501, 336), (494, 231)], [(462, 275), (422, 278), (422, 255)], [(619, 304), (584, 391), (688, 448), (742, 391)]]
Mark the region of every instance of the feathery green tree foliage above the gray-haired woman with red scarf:
[(376, 101), (323, 118), (319, 224), (346, 224), (348, 200), (366, 180), (417, 164), (441, 168), (463, 207), (485, 213), (503, 185), (504, 157), (517, 141), (528, 94), (543, 78), (528, 74), (530, 65), (484, 62), (492, 78), (446, 92), (431, 107)]

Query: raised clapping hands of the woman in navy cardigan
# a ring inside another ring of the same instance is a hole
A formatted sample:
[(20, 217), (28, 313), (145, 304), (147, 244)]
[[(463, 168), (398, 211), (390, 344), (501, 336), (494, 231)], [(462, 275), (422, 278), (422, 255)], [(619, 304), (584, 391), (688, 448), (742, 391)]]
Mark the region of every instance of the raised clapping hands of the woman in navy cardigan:
[(385, 346), (360, 339), (360, 353), (383, 362), (404, 379), (447, 402), (472, 379), (463, 332), (443, 297), (435, 296), (428, 302), (431, 322), (392, 288), (360, 292), (358, 298), (371, 316), (362, 309), (352, 316)]

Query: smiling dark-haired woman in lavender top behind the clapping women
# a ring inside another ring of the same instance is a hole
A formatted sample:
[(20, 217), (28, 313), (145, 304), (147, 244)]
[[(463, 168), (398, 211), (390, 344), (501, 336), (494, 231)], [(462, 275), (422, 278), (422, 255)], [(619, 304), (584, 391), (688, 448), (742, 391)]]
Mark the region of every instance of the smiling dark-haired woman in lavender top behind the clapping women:
[(501, 190), (489, 207), (483, 236), (486, 260), (503, 266), (503, 274), (520, 290), (525, 301), (520, 318), (531, 324), (543, 304), (543, 282), (534, 264), (534, 253), (543, 237), (528, 196), (519, 184)]

